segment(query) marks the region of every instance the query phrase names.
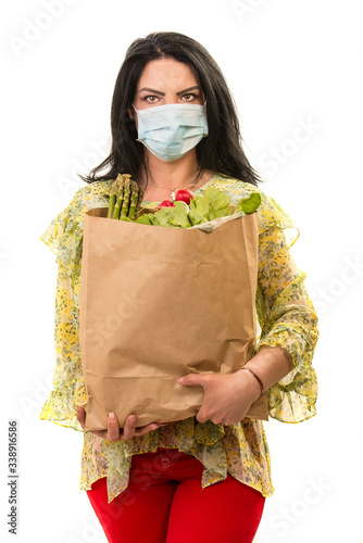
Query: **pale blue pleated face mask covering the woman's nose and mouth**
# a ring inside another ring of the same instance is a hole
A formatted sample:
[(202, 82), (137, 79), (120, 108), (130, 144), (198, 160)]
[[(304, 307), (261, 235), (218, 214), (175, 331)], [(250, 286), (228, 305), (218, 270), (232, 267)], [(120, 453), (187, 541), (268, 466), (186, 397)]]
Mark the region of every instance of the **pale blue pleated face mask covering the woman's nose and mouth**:
[[(134, 104), (133, 104), (134, 105)], [(208, 136), (205, 104), (166, 104), (134, 110), (138, 139), (161, 161), (173, 162)]]

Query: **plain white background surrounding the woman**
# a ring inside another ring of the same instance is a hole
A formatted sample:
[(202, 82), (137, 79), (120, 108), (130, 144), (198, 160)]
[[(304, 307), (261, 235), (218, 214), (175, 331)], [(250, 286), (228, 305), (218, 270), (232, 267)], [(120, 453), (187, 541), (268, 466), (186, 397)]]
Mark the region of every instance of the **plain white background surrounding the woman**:
[[(39, 236), (83, 186), (76, 173), (107, 156), (126, 48), (175, 30), (203, 43), (225, 73), (262, 189), (300, 228), (292, 251), (320, 315), (318, 415), (265, 424), (276, 491), (255, 541), (362, 543), (360, 2), (18, 0), (2, 2), (1, 21), (2, 541), (105, 541), (78, 490), (82, 434), (39, 420), (54, 363), (57, 274)], [(12, 418), (17, 536), (7, 532)]]

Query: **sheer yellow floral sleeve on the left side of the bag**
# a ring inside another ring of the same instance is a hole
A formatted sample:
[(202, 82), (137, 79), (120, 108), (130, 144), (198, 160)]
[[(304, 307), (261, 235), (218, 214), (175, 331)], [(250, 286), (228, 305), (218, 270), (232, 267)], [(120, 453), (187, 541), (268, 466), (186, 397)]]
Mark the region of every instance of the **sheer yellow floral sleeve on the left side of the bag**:
[[(112, 181), (110, 181), (112, 182)], [(85, 213), (108, 205), (109, 182), (78, 190), (70, 205), (49, 225), (40, 239), (55, 253), (53, 386), (40, 413), (41, 420), (83, 431), (76, 419), (76, 405), (87, 403), (79, 352), (79, 286)]]

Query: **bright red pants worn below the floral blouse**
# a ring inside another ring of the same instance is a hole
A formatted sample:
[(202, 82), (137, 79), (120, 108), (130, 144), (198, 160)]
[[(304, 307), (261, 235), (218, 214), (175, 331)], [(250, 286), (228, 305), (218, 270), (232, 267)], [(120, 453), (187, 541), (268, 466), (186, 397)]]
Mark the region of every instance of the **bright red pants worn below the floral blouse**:
[(127, 489), (108, 504), (107, 479), (87, 491), (110, 543), (251, 543), (265, 497), (231, 476), (201, 488), (203, 465), (173, 449), (134, 455)]

